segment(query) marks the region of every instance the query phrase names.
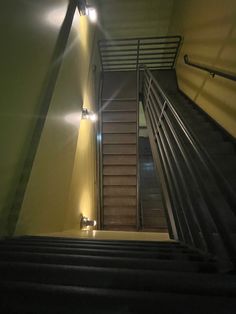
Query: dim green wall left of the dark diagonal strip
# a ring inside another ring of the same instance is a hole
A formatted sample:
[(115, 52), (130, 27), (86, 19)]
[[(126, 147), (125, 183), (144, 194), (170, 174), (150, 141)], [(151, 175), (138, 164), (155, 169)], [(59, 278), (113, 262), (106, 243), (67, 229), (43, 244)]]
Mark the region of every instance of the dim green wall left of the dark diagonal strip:
[(67, 3), (0, 2), (0, 235), (10, 232), (14, 218), (10, 215), (12, 200), (59, 32), (50, 17), (57, 7), (65, 12)]

